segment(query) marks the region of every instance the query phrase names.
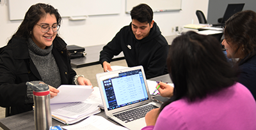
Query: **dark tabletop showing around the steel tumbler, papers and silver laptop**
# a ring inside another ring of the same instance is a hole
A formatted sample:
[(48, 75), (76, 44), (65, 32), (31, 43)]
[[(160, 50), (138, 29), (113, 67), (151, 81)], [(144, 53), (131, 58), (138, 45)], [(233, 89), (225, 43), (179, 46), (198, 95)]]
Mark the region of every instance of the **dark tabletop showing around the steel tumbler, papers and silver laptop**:
[[(149, 80), (153, 81), (163, 81), (172, 83), (172, 80), (168, 74), (157, 76), (155, 78), (150, 78)], [(108, 119), (106, 117), (104, 110), (102, 112), (98, 113), (97, 115), (100, 115), (104, 117), (105, 119)], [(115, 121), (108, 119), (110, 122), (113, 122), (114, 124), (117, 124)], [(24, 112), (17, 115), (12, 115), (10, 117), (6, 117), (4, 119), (0, 119), (0, 127), (3, 129), (35, 129), (35, 123), (34, 123), (34, 112)], [(65, 126), (65, 124), (58, 122), (57, 120), (52, 119), (52, 126)]]

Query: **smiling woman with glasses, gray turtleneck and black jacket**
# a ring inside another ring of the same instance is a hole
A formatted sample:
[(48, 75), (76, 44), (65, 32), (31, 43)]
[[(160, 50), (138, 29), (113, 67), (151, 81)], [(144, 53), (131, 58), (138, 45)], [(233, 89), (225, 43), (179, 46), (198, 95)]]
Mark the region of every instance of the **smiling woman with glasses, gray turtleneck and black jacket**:
[(0, 52), (0, 106), (10, 115), (32, 110), (33, 90), (26, 82), (47, 83), (51, 98), (62, 84), (92, 85), (71, 68), (67, 44), (58, 36), (61, 17), (54, 7), (38, 3), (27, 11), (19, 29)]

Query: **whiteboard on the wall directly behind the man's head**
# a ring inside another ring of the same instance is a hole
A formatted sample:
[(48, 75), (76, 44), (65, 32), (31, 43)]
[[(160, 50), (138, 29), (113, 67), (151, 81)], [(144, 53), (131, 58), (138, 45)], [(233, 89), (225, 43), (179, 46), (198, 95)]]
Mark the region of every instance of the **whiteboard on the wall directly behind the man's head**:
[(148, 4), (154, 12), (181, 10), (181, 0), (126, 0), (125, 12), (130, 13), (140, 3)]

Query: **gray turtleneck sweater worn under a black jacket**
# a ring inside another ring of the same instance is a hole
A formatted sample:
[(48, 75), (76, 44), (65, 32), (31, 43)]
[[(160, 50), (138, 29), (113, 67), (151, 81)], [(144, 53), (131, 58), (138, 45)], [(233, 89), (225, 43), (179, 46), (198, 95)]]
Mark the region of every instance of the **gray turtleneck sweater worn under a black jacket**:
[[(29, 56), (35, 64), (43, 82), (58, 88), (61, 85), (61, 77), (58, 65), (52, 55), (52, 47), (53, 45), (42, 49), (31, 38), (28, 40)], [(39, 83), (41, 81), (31, 82)], [(27, 89), (25, 103), (33, 103), (33, 90), (30, 87)]]

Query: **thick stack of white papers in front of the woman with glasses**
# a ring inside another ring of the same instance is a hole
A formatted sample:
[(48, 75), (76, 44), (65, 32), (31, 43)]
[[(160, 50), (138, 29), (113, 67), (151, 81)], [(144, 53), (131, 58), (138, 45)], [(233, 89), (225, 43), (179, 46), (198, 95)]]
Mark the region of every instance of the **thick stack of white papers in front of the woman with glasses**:
[[(58, 96), (51, 99), (53, 119), (63, 124), (74, 124), (90, 115), (100, 113), (99, 105), (102, 101), (97, 96), (97, 90), (93, 93), (92, 86), (61, 85), (58, 90)], [(88, 98), (90, 96), (91, 98)]]

